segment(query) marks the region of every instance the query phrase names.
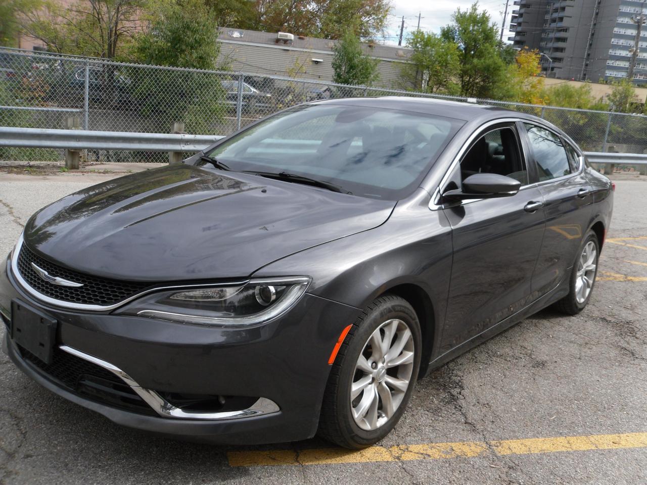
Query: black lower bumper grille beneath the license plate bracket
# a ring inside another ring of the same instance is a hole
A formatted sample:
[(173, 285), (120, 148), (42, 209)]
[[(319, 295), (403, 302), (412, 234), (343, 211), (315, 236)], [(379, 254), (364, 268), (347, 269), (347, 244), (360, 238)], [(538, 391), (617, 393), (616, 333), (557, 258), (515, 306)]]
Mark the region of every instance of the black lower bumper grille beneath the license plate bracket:
[(45, 363), (29, 350), (18, 346), (23, 359), (47, 378), (78, 396), (126, 411), (157, 416), (131, 387), (103, 367), (72, 354), (54, 349), (52, 363)]

